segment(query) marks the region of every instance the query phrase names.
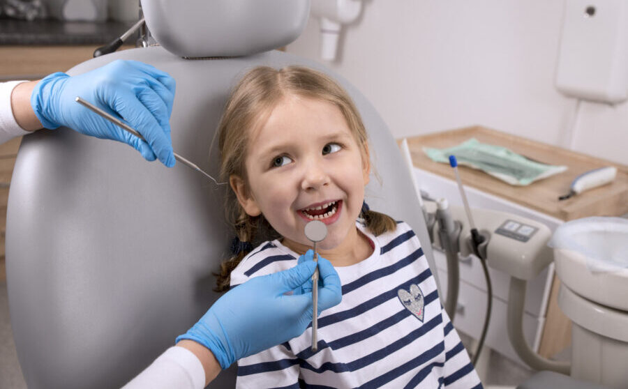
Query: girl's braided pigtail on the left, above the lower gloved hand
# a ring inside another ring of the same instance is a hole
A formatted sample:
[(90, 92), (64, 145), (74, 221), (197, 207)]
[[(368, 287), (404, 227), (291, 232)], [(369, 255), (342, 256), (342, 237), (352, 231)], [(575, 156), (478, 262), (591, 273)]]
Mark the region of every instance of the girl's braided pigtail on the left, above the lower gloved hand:
[(246, 257), (246, 255), (253, 250), (253, 238), (255, 238), (255, 231), (257, 230), (257, 219), (252, 218), (244, 212), (244, 209), (240, 208), (240, 215), (235, 223), (236, 236), (231, 242), (231, 254), (232, 257), (223, 261), (220, 264), (220, 274), (216, 275), (216, 288), (214, 291), (223, 292), (228, 291), (231, 282), (231, 272), (236, 266)]

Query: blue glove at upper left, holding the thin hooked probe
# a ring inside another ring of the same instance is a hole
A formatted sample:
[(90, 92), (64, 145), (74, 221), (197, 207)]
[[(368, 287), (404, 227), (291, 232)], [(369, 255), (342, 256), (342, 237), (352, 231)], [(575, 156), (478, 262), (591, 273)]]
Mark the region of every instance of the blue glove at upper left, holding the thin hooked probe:
[[(149, 161), (174, 166), (170, 114), (175, 82), (170, 75), (138, 61), (113, 61), (102, 68), (70, 77), (53, 73), (31, 94), (31, 106), (45, 128), (61, 125), (101, 139), (130, 144)], [(101, 118), (75, 101), (80, 96), (124, 119), (142, 139)]]

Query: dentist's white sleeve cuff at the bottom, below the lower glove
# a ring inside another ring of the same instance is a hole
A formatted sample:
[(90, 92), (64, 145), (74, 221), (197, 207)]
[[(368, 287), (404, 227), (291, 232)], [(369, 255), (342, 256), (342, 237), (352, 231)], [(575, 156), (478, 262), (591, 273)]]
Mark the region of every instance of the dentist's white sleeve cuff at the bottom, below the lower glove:
[(204, 386), (205, 371), (200, 360), (192, 351), (172, 346), (123, 389), (202, 389)]

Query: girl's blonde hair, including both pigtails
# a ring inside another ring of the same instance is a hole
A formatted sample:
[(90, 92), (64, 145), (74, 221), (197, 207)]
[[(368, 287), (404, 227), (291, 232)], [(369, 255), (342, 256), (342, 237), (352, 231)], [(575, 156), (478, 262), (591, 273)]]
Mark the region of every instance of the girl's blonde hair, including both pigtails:
[[(359, 145), (362, 159), (368, 158), (364, 123), (347, 92), (333, 79), (302, 66), (288, 66), (280, 70), (260, 66), (246, 73), (234, 88), (218, 125), (222, 181), (235, 175), (248, 184), (245, 158), (251, 129), (269, 115), (278, 102), (290, 95), (324, 100), (338, 107)], [(248, 188), (248, 185), (245, 186)], [(225, 203), (227, 221), (234, 226), (237, 238), (250, 244), (241, 245), (246, 248), (220, 265), (220, 274), (216, 274), (216, 291), (229, 289), (232, 270), (246, 257), (251, 247), (281, 236), (264, 215), (249, 216), (232, 190), (228, 191)], [(383, 213), (364, 211), (360, 215), (375, 236), (396, 228), (396, 222)]]

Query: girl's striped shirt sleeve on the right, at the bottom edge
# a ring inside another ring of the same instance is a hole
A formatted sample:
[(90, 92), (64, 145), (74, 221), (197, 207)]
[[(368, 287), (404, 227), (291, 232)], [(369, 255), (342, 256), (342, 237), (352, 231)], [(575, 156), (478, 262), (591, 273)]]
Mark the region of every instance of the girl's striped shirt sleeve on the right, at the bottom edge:
[(445, 347), (444, 388), (482, 388), (479, 376), (469, 359), (467, 349), (456, 332), (456, 328), (451, 324), (447, 312), (444, 309), (441, 311)]

